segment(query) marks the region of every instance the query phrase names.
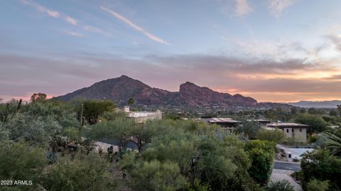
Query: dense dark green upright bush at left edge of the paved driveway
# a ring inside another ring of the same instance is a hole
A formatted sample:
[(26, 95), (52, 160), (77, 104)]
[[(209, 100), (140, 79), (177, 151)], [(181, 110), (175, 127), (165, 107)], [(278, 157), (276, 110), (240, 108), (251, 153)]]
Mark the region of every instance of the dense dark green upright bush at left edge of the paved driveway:
[(261, 185), (269, 181), (274, 164), (275, 143), (269, 141), (249, 141), (245, 150), (251, 159), (249, 175)]

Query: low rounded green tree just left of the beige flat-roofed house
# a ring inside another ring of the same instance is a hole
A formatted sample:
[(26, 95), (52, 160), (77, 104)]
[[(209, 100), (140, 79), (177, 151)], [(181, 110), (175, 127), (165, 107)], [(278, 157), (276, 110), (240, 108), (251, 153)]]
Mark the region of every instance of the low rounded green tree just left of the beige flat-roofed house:
[(268, 130), (259, 129), (256, 138), (262, 141), (273, 141), (274, 143), (283, 143), (286, 140), (286, 134), (280, 129)]

